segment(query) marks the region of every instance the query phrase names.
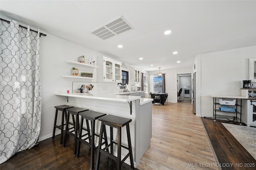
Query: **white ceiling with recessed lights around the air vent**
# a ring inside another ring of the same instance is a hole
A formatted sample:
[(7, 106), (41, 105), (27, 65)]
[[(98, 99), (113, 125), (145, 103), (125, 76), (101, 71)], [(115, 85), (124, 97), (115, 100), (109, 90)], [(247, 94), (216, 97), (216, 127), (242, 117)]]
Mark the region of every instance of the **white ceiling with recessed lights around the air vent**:
[[(1, 0), (0, 10), (46, 33), (148, 71), (192, 68), (197, 54), (256, 45), (255, 0)], [(134, 29), (106, 40), (90, 33), (120, 16)], [(172, 33), (164, 35), (166, 30)], [(120, 44), (122, 49), (117, 47)], [(173, 55), (174, 51), (178, 54)]]

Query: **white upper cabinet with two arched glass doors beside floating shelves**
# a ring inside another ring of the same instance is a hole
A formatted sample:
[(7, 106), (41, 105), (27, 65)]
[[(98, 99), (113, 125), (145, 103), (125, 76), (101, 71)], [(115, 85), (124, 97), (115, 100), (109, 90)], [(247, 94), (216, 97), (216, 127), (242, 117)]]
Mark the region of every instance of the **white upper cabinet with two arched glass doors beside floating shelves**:
[(98, 57), (98, 82), (122, 82), (121, 62), (108, 57)]

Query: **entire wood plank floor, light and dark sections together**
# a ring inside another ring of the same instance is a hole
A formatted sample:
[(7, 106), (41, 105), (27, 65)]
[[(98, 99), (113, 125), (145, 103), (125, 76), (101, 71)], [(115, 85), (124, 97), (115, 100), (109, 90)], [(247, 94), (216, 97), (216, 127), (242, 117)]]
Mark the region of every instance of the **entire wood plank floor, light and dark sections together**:
[[(206, 124), (203, 126), (203, 123)], [(204, 130), (207, 129), (207, 130)], [(220, 123), (203, 120), (192, 113), (190, 101), (152, 106), (151, 145), (136, 170), (216, 170), (217, 162), (254, 162), (250, 154), (225, 130)], [(205, 131), (208, 135), (206, 136)], [(207, 137), (211, 140), (210, 145)], [(227, 138), (227, 139), (225, 139)], [(65, 148), (59, 145), (60, 135), (54, 140), (41, 141), (32, 149), (16, 153), (0, 165), (1, 170), (56, 170), (90, 169), (90, 148), (81, 145), (80, 157), (73, 155), (73, 137), (68, 137)], [(224, 152), (228, 150), (229, 152)], [(96, 155), (95, 155), (96, 162)], [(186, 165), (186, 167), (184, 166)], [(208, 165), (206, 165), (208, 164)], [(210, 166), (212, 164), (212, 166)], [(115, 170), (116, 163), (104, 155), (100, 169)], [(222, 169), (230, 169), (223, 168)], [(241, 168), (236, 168), (241, 169)], [(122, 170), (130, 166), (122, 164)]]

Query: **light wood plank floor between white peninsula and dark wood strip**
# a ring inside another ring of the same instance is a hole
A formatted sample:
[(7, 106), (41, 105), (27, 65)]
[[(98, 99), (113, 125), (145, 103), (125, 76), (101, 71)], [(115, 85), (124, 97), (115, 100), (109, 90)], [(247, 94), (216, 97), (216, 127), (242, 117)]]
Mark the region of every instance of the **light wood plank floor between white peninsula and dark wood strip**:
[[(200, 117), (192, 104), (152, 106), (151, 145), (140, 160), (140, 170), (192, 169), (183, 164), (215, 163)], [(217, 169), (215, 167), (196, 169)]]

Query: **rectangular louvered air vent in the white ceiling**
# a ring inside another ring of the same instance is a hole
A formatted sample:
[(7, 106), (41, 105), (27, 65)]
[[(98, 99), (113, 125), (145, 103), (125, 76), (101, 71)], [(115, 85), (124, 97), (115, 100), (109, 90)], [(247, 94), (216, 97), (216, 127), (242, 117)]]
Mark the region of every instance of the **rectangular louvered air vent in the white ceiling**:
[(91, 33), (97, 37), (100, 37), (101, 39), (108, 39), (130, 29), (133, 29), (132, 26), (126, 20), (124, 20), (122, 16), (120, 16), (119, 18), (106, 23), (100, 28), (91, 31)]

